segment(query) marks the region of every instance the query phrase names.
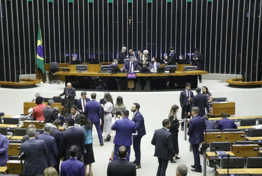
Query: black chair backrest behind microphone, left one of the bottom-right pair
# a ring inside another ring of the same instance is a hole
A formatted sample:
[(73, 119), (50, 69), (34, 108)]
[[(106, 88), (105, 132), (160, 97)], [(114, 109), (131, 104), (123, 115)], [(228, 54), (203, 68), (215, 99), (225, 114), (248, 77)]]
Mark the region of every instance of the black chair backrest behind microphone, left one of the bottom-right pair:
[[(229, 159), (229, 168), (244, 168), (245, 158), (244, 157), (232, 157)], [(221, 158), (220, 168), (227, 168), (227, 157)]]

